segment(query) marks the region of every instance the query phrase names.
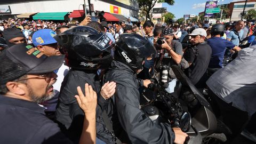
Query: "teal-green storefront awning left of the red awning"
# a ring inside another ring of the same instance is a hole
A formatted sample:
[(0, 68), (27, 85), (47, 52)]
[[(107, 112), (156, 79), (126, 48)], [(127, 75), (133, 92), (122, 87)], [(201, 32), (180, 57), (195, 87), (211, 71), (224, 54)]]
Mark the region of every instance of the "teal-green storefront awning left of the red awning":
[(68, 14), (68, 12), (45, 12), (45, 13), (37, 13), (33, 16), (34, 20), (65, 20), (65, 15)]

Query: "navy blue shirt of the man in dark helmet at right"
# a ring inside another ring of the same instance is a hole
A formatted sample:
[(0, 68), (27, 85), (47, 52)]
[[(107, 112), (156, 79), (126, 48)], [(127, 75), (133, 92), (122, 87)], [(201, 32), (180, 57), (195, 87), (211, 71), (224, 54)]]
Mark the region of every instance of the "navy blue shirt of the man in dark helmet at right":
[(224, 59), (226, 47), (231, 50), (236, 45), (229, 42), (227, 39), (222, 39), (220, 37), (211, 37), (207, 39), (207, 43), (212, 48), (212, 57), (208, 67), (222, 68), (222, 61)]

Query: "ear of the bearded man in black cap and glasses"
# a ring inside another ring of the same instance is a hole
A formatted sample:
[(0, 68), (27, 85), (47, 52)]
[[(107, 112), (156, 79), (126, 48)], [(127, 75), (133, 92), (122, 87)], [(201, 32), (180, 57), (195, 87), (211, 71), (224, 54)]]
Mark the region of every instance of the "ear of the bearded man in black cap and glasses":
[(17, 94), (17, 95), (24, 95), (26, 92), (22, 89), (22, 84), (18, 82), (7, 82), (6, 87), (9, 92)]

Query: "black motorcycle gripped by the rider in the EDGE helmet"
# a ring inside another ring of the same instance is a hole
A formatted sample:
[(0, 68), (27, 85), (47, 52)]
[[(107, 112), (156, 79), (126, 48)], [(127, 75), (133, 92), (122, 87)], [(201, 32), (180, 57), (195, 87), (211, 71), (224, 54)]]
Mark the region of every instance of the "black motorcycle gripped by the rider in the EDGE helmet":
[(171, 68), (178, 79), (174, 92), (167, 92), (168, 84), (154, 75), (152, 83), (142, 93), (148, 102), (141, 109), (155, 123), (165, 122), (180, 127), (189, 135), (186, 143), (225, 142), (225, 134), (215, 133), (219, 123), (210, 103), (178, 66)]

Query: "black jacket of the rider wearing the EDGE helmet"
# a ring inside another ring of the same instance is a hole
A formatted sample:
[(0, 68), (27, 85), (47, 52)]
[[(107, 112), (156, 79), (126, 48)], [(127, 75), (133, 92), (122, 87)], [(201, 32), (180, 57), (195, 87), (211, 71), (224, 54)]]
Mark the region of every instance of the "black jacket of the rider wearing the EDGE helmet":
[[(140, 109), (139, 86), (133, 70), (122, 62), (113, 61), (111, 68), (105, 74), (105, 82), (116, 82), (116, 93), (112, 97), (114, 100), (113, 120), (115, 115), (119, 123), (127, 133), (131, 143), (173, 143), (175, 135), (171, 125), (167, 123), (156, 124), (147, 117)], [(114, 131), (118, 123), (115, 123)], [(119, 127), (121, 127), (119, 126)], [(121, 132), (119, 132), (121, 133)], [(122, 136), (116, 136), (123, 140)], [(126, 142), (126, 141), (122, 141)]]

